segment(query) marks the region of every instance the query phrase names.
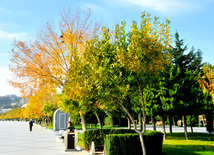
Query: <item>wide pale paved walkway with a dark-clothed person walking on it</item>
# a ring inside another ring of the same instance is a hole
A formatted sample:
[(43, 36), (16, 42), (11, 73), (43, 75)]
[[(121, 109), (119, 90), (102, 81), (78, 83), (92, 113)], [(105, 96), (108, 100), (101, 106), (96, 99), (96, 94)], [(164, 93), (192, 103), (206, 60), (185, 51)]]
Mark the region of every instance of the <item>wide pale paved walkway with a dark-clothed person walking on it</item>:
[(86, 151), (65, 152), (50, 129), (28, 122), (0, 121), (0, 155), (87, 155)]

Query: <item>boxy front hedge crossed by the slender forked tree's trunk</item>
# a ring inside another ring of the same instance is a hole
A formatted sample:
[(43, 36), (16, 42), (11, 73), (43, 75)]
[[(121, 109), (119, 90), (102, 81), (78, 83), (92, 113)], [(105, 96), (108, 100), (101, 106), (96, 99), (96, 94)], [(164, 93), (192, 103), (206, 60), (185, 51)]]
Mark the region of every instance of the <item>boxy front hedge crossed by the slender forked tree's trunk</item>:
[[(147, 155), (161, 154), (163, 133), (146, 131), (143, 135)], [(142, 155), (139, 134), (111, 134), (105, 140), (106, 155)]]

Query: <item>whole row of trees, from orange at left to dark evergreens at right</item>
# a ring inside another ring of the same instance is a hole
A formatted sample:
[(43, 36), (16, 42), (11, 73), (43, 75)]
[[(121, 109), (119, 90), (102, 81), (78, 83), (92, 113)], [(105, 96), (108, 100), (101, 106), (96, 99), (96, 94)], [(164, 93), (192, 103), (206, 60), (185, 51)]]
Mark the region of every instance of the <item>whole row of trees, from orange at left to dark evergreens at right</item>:
[[(142, 13), (141, 23), (133, 21), (128, 32), (125, 21), (114, 30), (101, 27), (90, 11), (68, 10), (61, 19), (59, 29), (49, 23), (34, 41), (14, 42), (10, 69), (16, 80), (11, 84), (23, 95), (33, 92), (29, 113), (40, 116), (57, 104), (53, 107), (74, 120), (80, 115), (86, 130), (87, 112), (93, 111), (101, 125), (100, 110), (122, 108), (140, 135), (143, 154), (146, 115), (154, 122), (159, 115), (164, 133), (166, 115), (170, 120), (184, 116), (186, 138), (187, 115), (213, 116), (213, 67), (202, 67), (200, 51), (185, 54), (178, 33), (171, 46), (168, 19), (161, 23)], [(136, 115), (143, 118), (142, 130), (137, 130)]]

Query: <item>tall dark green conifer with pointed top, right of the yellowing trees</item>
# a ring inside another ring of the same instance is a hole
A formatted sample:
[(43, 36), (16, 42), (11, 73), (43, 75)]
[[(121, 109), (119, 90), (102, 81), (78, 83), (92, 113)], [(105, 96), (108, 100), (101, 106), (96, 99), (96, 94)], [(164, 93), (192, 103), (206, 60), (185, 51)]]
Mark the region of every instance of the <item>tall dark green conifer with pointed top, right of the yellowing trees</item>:
[[(198, 88), (198, 82), (195, 81), (195, 79), (198, 79), (199, 74), (201, 73), (201, 67), (203, 66), (202, 64), (202, 56), (201, 56), (201, 51), (198, 50), (197, 52), (194, 52), (194, 48), (192, 48), (187, 54), (185, 54), (187, 50), (187, 45), (184, 46), (183, 40), (179, 38), (179, 34), (176, 32), (175, 33), (175, 47), (172, 48), (172, 55), (173, 55), (173, 65), (175, 66), (175, 69), (179, 69), (179, 78), (174, 81), (175, 83), (180, 84), (180, 92), (178, 92), (180, 98), (179, 104), (180, 105), (188, 105), (188, 99), (189, 95), (188, 93), (194, 93), (194, 90), (196, 87)], [(189, 81), (192, 79), (193, 81)], [(193, 84), (189, 85), (190, 83)], [(197, 84), (196, 84), (197, 83)], [(195, 86), (195, 88), (194, 88)], [(198, 88), (199, 89), (199, 88)], [(188, 97), (187, 97), (188, 96)], [(198, 95), (196, 94), (196, 96)], [(192, 100), (192, 98), (190, 99)], [(197, 101), (197, 98), (195, 98), (195, 102)], [(191, 102), (191, 101), (190, 101)], [(184, 106), (185, 108), (187, 106)], [(185, 109), (183, 109), (186, 111)], [(188, 112), (188, 111), (186, 111)], [(186, 114), (185, 114), (186, 115)], [(186, 139), (187, 137), (187, 129), (186, 129), (186, 116), (184, 116), (184, 130), (185, 130), (185, 135)]]

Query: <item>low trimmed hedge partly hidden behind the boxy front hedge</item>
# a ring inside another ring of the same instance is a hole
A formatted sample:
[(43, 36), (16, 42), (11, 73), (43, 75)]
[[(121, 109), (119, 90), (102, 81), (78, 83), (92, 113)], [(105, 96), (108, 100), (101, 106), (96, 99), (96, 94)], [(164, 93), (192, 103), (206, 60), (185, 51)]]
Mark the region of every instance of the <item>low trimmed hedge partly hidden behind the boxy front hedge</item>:
[(94, 141), (95, 146), (104, 145), (104, 140), (108, 134), (124, 134), (124, 133), (136, 133), (130, 129), (96, 129), (86, 130), (83, 133), (85, 150), (89, 150), (91, 142)]

